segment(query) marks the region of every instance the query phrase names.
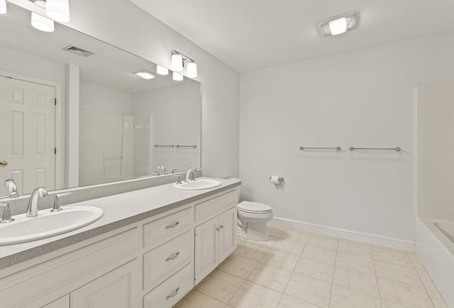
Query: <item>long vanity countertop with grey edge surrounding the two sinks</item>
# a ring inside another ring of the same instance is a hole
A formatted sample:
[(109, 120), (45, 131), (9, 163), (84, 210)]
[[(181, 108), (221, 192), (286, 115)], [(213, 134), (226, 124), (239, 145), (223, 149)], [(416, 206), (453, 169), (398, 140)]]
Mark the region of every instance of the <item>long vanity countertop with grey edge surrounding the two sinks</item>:
[(68, 204), (66, 207), (74, 205), (99, 207), (104, 210), (104, 216), (93, 224), (58, 236), (28, 243), (0, 246), (0, 270), (241, 184), (241, 181), (236, 178), (216, 180), (221, 182), (221, 186), (212, 189), (178, 190), (172, 187), (172, 183)]

